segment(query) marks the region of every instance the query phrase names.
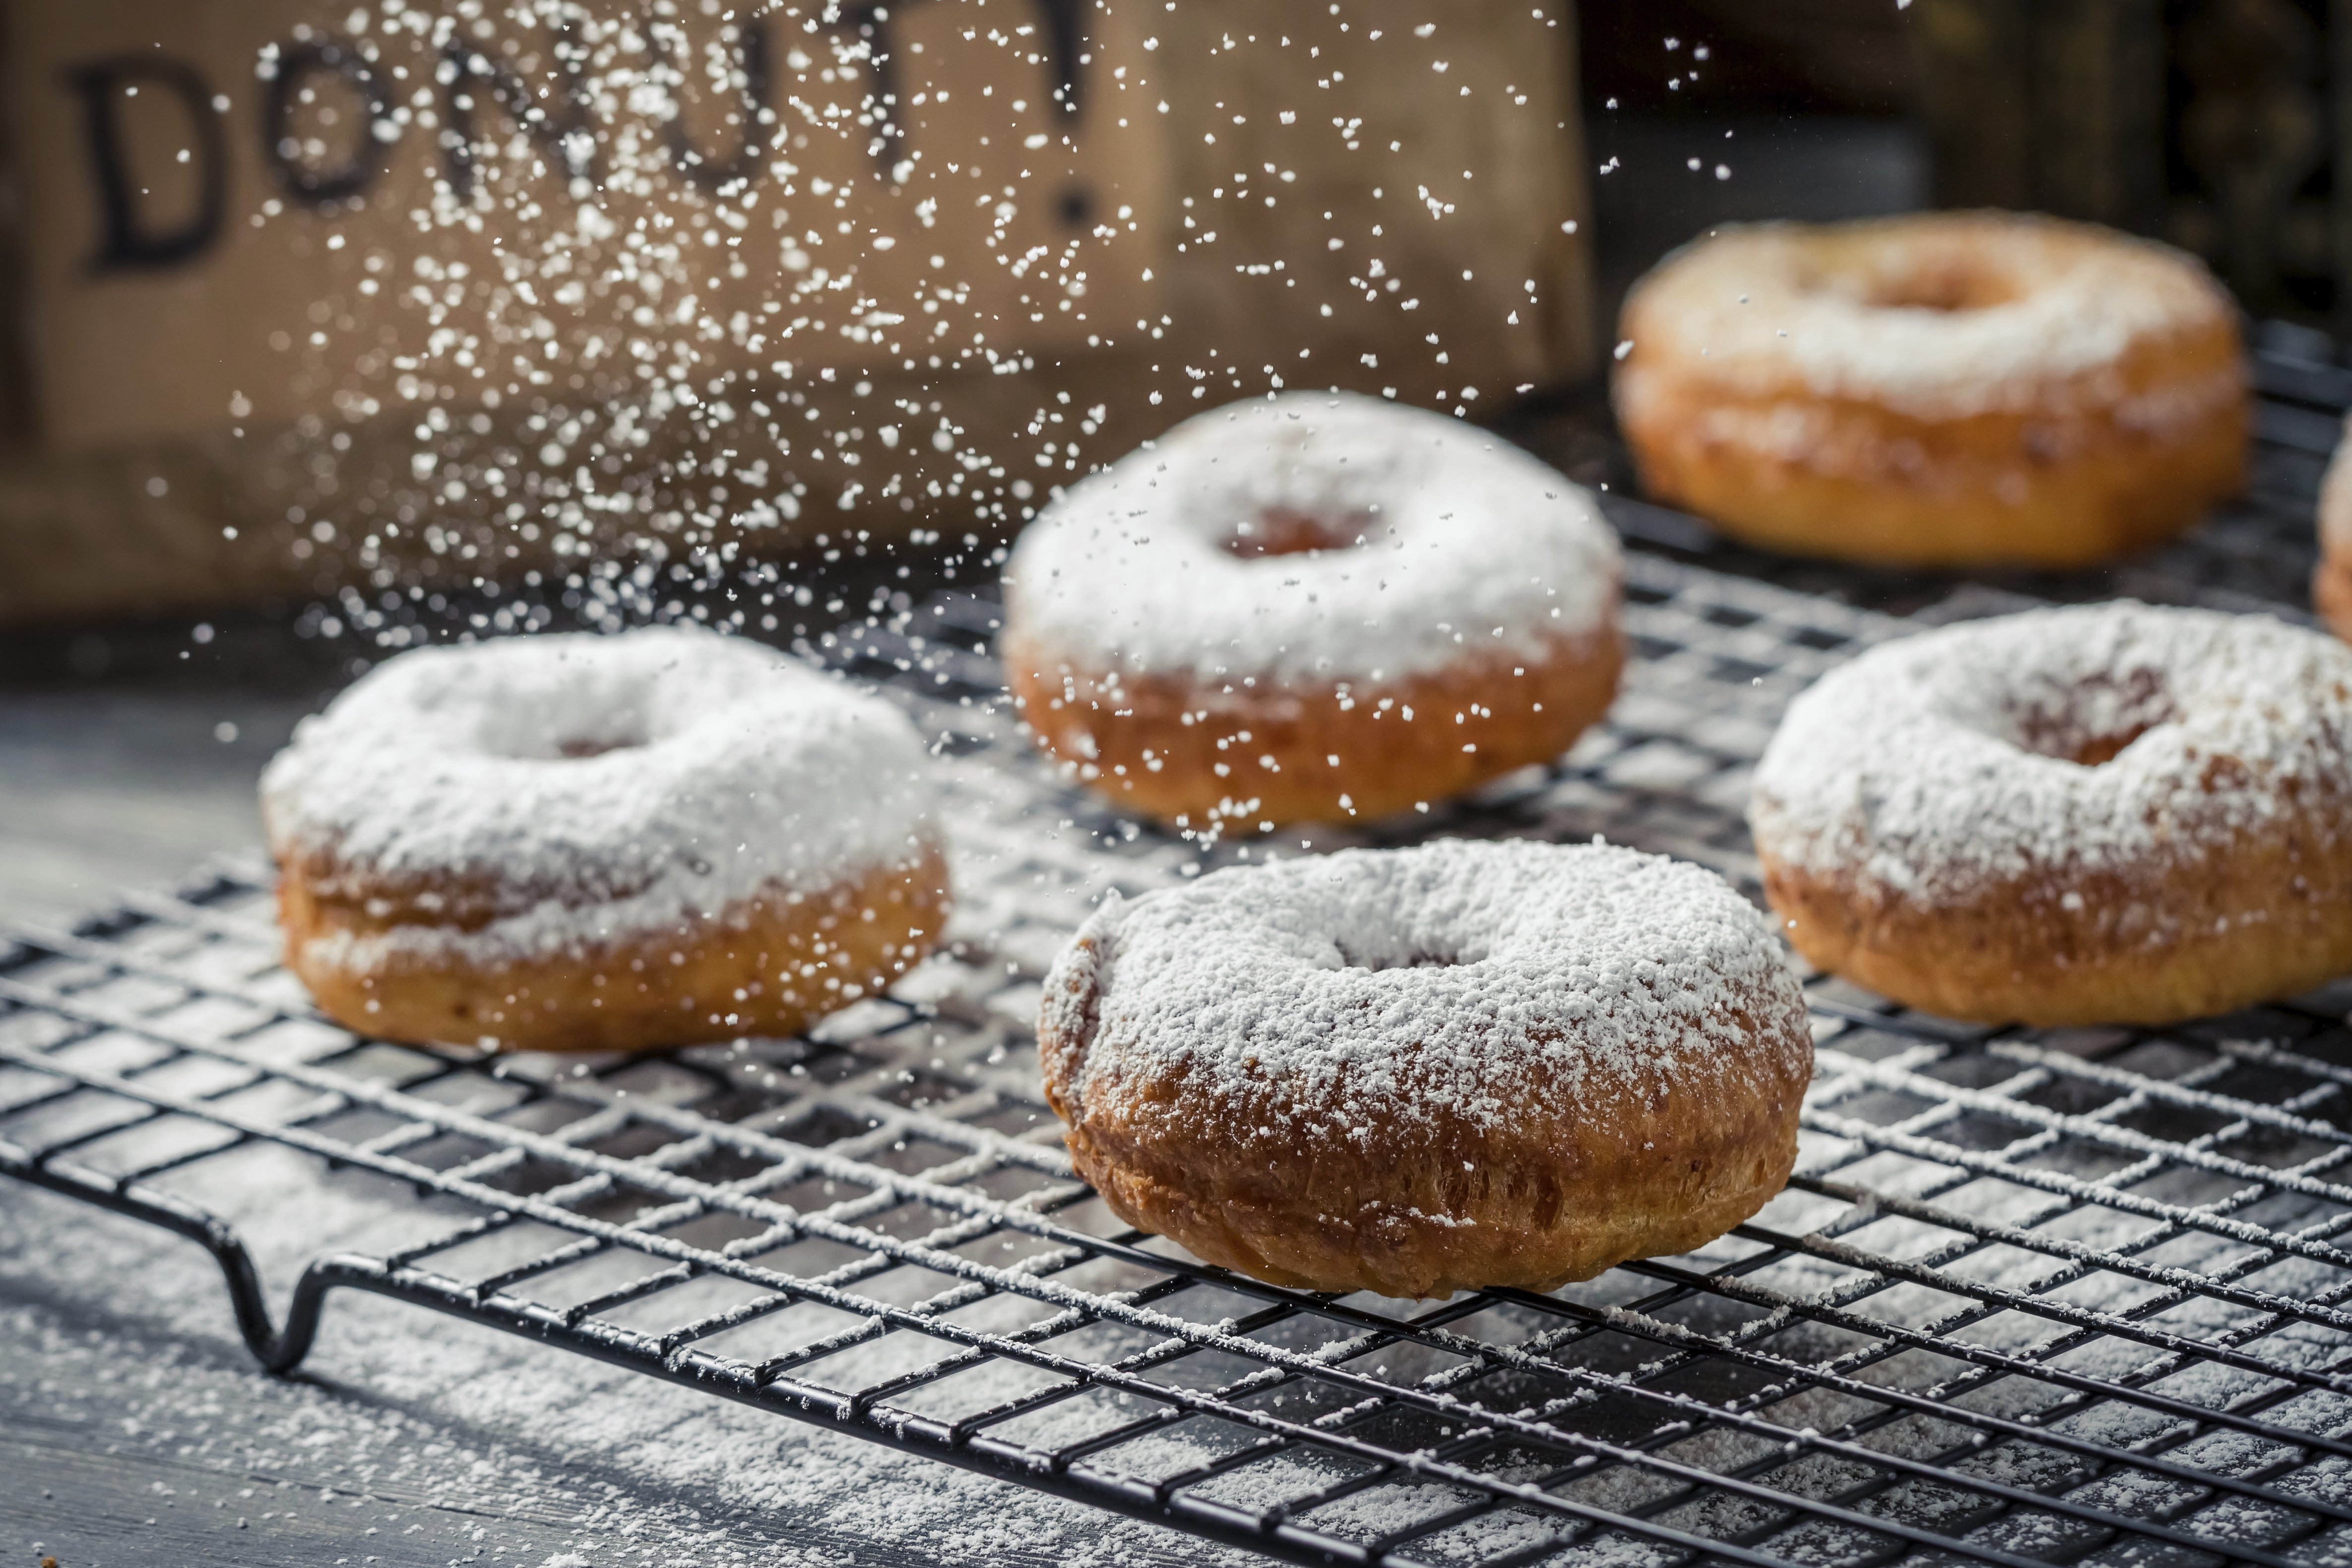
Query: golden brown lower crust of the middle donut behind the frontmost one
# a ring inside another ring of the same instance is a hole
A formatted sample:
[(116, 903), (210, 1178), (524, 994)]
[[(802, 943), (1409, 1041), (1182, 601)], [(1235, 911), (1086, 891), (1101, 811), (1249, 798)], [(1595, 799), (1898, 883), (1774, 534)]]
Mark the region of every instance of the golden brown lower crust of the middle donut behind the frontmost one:
[(1004, 635), (1037, 743), (1120, 809), (1195, 827), (1371, 820), (1552, 762), (1609, 712), (1623, 665), (1613, 607), (1534, 658), (1475, 651), (1378, 684), (1134, 677), (1018, 628)]

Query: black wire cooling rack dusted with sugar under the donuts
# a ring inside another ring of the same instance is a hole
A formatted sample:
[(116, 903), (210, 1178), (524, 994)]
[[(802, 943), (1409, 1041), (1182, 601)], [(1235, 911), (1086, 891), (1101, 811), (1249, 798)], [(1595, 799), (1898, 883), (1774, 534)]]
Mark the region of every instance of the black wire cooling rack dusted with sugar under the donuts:
[[(1780, 705), (1900, 623), (1630, 562), (1611, 719), (1409, 830), (1672, 851), (1752, 891)], [(1037, 980), (1190, 844), (997, 710), (985, 599), (828, 649), (941, 736), (955, 947), (807, 1039), (470, 1058), (355, 1039), (261, 867), (0, 947), (0, 1171), (176, 1229), (270, 1368), (369, 1291), (1301, 1563), (2343, 1563), (2347, 997), (2169, 1032), (1962, 1027), (1809, 985), (1804, 1159), (1757, 1220), (1550, 1295), (1324, 1298), (1192, 1262), (1070, 1175)], [(1322, 839), (1315, 846), (1327, 846)], [(273, 1321), (216, 1171), (381, 1178), (379, 1251)]]

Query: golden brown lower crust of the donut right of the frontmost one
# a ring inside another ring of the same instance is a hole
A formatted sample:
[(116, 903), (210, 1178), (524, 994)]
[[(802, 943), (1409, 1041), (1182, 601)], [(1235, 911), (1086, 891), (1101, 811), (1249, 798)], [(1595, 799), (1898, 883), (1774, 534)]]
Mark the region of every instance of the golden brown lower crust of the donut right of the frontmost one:
[[(2333, 802), (2343, 809), (2343, 802)], [(2352, 839), (2312, 820), (2211, 863), (2009, 879), (1917, 905), (1759, 846), (1764, 896), (1818, 969), (1943, 1018), (2037, 1027), (2213, 1018), (2352, 971)], [(2324, 896), (2321, 889), (2336, 889)], [(2070, 910), (2067, 893), (2077, 907)], [(2161, 940), (2133, 914), (2192, 933)]]

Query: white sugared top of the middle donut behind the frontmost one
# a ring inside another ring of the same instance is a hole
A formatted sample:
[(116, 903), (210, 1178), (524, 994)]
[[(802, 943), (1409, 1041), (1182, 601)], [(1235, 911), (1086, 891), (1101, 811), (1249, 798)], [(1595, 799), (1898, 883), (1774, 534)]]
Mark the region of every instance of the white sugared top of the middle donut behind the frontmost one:
[(1200, 414), (1049, 505), (1009, 625), (1127, 675), (1397, 679), (1543, 656), (1618, 590), (1592, 496), (1475, 425), (1352, 393)]

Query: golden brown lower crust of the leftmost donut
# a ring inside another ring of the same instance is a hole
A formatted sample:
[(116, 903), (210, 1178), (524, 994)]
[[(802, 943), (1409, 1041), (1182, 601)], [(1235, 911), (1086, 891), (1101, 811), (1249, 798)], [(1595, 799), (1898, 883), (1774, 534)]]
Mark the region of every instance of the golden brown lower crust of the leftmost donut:
[(456, 884), (381, 886), (315, 860), (278, 867), (287, 969), (343, 1027), (407, 1044), (652, 1051), (797, 1034), (922, 961), (948, 917), (946, 856), (929, 844), (908, 865), (588, 952), (468, 961), (388, 950), (350, 966), (336, 957), (343, 943), (320, 938), (475, 931), (485, 900)]

